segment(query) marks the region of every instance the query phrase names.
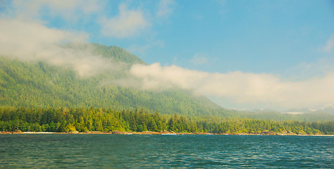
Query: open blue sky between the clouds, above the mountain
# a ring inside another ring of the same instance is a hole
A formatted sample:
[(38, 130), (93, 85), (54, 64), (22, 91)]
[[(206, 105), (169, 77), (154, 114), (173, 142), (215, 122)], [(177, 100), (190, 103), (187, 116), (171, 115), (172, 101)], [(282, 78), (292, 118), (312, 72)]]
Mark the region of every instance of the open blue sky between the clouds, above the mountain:
[[(97, 17), (80, 18), (86, 24), (43, 20), (49, 27), (85, 31), (90, 42), (121, 46), (147, 63), (218, 73), (283, 74), (300, 63), (316, 63), (326, 57), (319, 49), (334, 32), (333, 1), (171, 1), (161, 17), (159, 3), (106, 4), (102, 11), (111, 18), (122, 4), (142, 12), (148, 25), (128, 37), (101, 35)], [(195, 56), (206, 59), (190, 62)]]

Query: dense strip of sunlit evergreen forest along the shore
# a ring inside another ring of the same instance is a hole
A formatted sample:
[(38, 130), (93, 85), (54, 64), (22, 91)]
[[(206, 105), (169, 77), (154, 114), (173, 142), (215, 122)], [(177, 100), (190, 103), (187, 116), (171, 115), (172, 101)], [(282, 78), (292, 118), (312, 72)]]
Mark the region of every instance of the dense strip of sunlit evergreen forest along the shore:
[(161, 115), (143, 108), (115, 111), (105, 108), (0, 108), (0, 130), (23, 132), (156, 131), (334, 134), (334, 122), (254, 120), (247, 118), (187, 118)]

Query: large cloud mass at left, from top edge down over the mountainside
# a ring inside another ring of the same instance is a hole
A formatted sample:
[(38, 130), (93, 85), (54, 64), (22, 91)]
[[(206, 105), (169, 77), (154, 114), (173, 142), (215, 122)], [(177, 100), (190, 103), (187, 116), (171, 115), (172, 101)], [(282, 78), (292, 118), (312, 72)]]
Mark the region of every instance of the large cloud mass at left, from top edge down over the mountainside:
[[(92, 53), (85, 44), (89, 35), (79, 31), (65, 31), (46, 27), (44, 17), (56, 16), (75, 21), (99, 11), (101, 1), (93, 0), (13, 0), (1, 11), (0, 55), (20, 61), (44, 61), (51, 65), (73, 68), (80, 77), (89, 77), (104, 70), (116, 70), (110, 59)], [(78, 15), (80, 13), (80, 15)], [(46, 16), (45, 16), (46, 15)], [(61, 44), (85, 44), (82, 50), (64, 48)]]

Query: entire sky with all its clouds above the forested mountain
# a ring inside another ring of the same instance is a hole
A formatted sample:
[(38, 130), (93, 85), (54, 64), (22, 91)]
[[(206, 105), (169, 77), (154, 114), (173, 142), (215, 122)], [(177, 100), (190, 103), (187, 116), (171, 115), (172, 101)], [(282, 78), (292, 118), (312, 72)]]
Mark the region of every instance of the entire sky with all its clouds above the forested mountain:
[(0, 0), (0, 25), (0, 54), (82, 77), (121, 65), (55, 44), (120, 46), (149, 64), (130, 69), (141, 89), (224, 108), (334, 106), (334, 1)]

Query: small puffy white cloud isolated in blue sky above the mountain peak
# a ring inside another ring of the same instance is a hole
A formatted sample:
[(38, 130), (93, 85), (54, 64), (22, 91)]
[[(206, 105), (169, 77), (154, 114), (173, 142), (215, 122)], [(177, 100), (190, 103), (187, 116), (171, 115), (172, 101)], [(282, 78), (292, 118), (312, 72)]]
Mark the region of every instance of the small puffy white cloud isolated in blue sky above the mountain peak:
[(140, 10), (128, 10), (125, 4), (119, 6), (119, 15), (100, 20), (101, 33), (110, 37), (131, 37), (149, 26)]

